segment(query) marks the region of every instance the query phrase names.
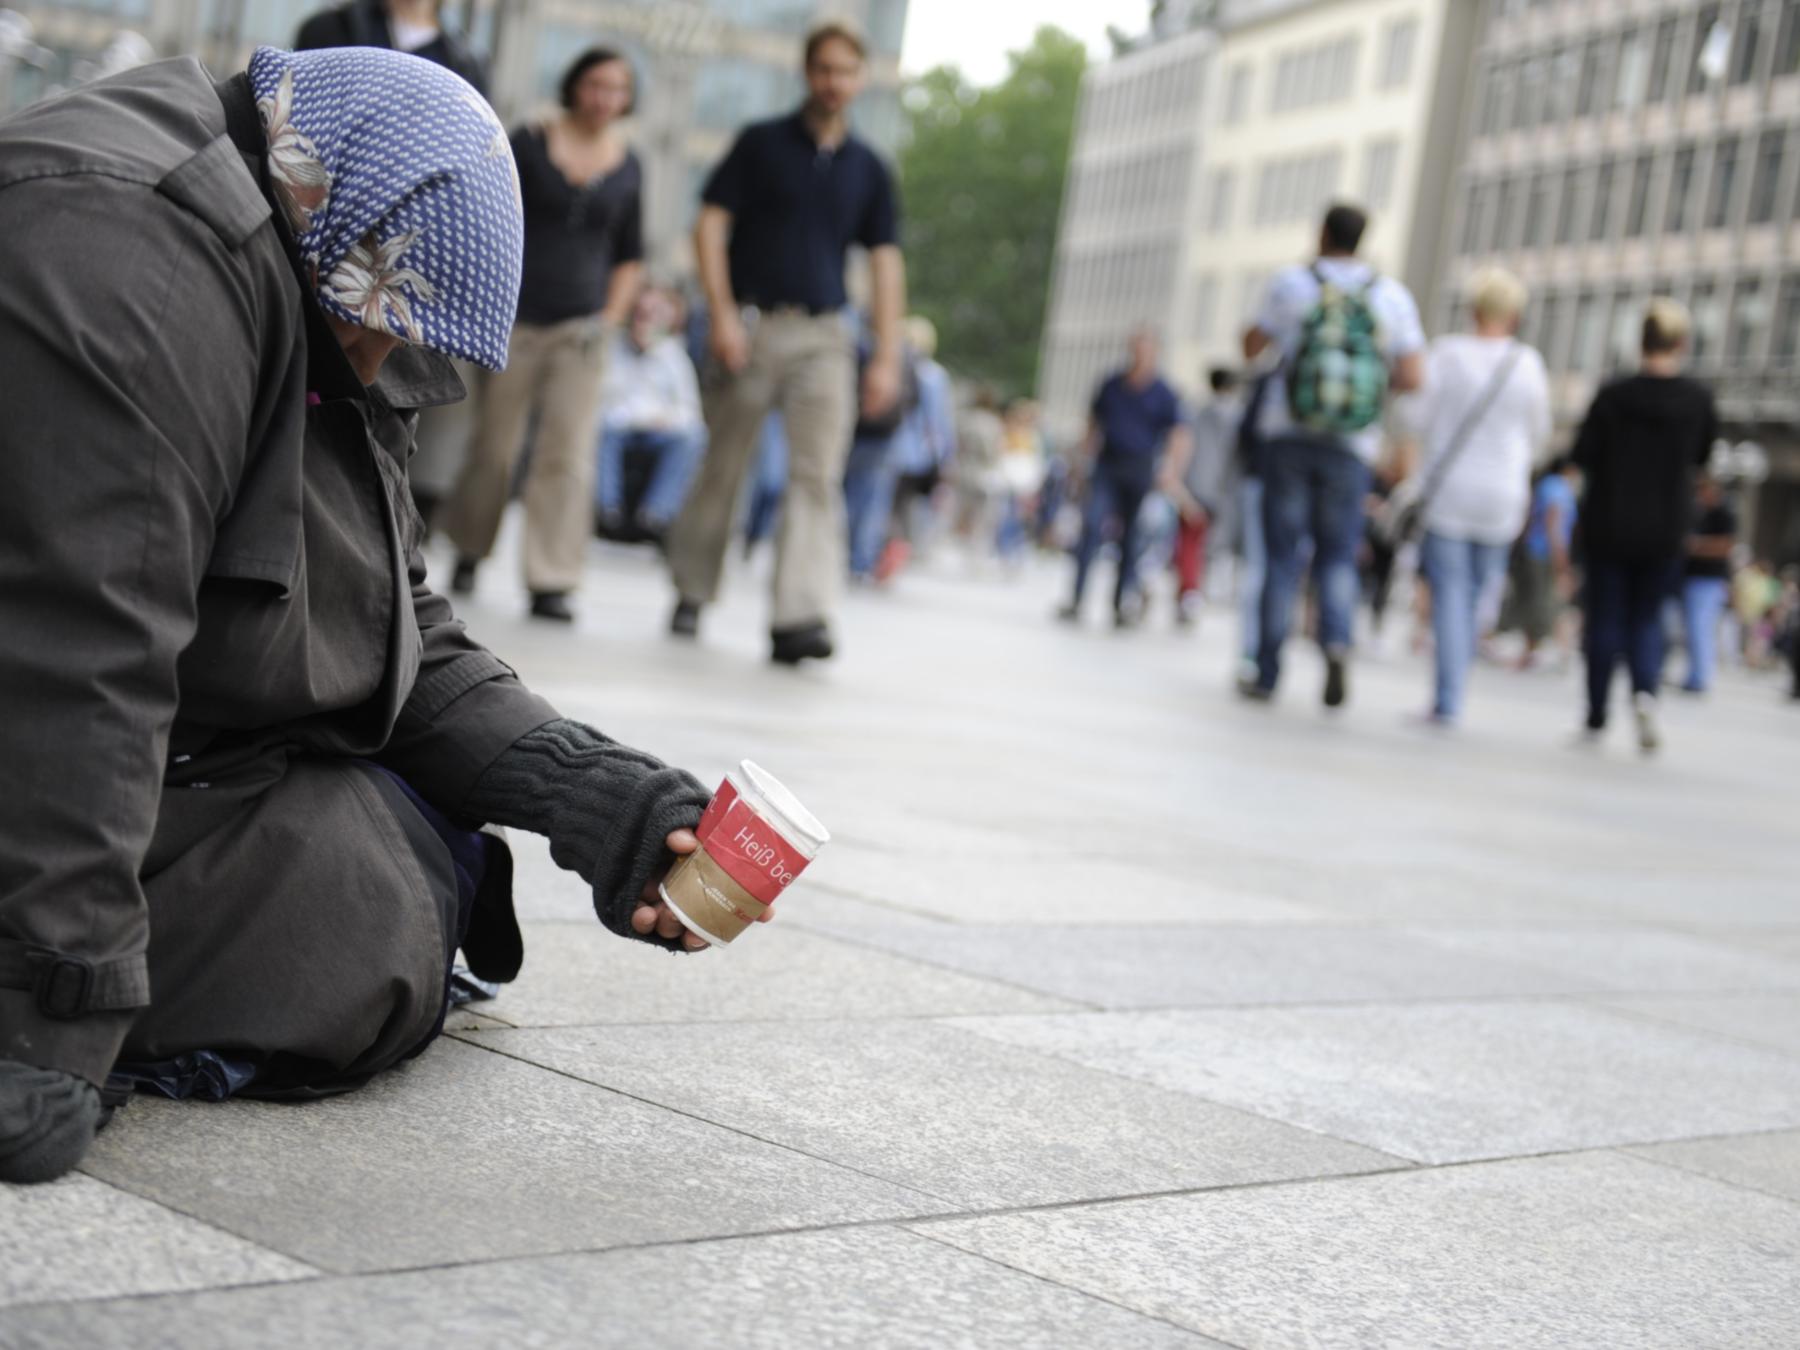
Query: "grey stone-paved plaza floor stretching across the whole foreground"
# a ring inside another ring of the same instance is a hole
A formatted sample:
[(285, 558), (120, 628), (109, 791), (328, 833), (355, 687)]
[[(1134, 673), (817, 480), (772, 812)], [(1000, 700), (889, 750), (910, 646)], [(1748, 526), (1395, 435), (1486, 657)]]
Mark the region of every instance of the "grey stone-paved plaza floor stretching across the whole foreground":
[(535, 839), (520, 981), (331, 1102), (139, 1100), (0, 1190), (0, 1346), (1800, 1345), (1800, 709), (1732, 675), (1645, 763), (1573, 675), (1229, 695), (1229, 619), (1062, 581), (855, 594), (770, 670), (643, 553), (574, 634), (472, 628), (571, 716), (835, 842), (778, 923), (608, 936)]

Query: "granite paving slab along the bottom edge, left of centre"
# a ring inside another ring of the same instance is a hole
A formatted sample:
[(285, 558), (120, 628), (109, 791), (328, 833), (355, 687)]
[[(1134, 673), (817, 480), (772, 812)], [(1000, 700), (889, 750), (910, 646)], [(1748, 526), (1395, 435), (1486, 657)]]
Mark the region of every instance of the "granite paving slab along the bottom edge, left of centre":
[[(266, 1339), (265, 1339), (266, 1337)], [(7, 1350), (1229, 1350), (891, 1228), (25, 1309)]]

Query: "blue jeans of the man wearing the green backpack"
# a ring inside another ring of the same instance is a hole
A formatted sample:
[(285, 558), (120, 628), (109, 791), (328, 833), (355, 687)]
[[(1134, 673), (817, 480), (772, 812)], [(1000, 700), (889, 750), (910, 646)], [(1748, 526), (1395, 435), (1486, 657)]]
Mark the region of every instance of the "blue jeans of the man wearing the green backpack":
[(1312, 538), (1312, 585), (1319, 599), (1319, 646), (1343, 653), (1355, 619), (1355, 551), (1363, 542), (1368, 464), (1332, 441), (1278, 436), (1258, 452), (1262, 529), (1269, 572), (1262, 583), (1256, 682), (1282, 679), (1282, 644), (1300, 594), (1300, 554)]

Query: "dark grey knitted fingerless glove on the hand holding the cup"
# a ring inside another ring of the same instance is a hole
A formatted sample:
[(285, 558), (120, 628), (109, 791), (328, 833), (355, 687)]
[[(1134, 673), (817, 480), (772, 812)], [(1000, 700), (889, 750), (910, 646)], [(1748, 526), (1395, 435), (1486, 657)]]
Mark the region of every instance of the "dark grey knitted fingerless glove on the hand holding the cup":
[(475, 781), (463, 808), (491, 824), (551, 841), (556, 864), (594, 887), (594, 913), (623, 938), (684, 950), (680, 940), (632, 931), (644, 884), (675, 855), (662, 842), (691, 830), (713, 794), (693, 774), (580, 722), (520, 736)]

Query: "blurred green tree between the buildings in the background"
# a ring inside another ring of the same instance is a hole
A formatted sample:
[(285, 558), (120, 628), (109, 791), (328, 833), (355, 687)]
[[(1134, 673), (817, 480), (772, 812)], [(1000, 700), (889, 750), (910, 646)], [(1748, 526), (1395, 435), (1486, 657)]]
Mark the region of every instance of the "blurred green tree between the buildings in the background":
[(907, 86), (900, 189), (911, 308), (938, 326), (940, 360), (1030, 394), (1087, 49), (1040, 27), (1008, 59), (992, 88), (956, 67)]

